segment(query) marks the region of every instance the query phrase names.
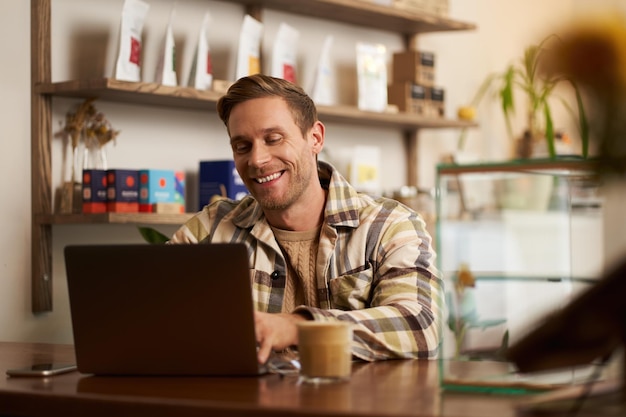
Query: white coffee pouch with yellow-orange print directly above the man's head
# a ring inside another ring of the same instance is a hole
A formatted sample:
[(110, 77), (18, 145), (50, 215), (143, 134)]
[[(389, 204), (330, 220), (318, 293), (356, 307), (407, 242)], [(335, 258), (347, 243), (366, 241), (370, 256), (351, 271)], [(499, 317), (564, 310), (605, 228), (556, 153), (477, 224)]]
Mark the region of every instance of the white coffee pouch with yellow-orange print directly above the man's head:
[(263, 23), (246, 15), (239, 34), (235, 79), (261, 72), (261, 35)]

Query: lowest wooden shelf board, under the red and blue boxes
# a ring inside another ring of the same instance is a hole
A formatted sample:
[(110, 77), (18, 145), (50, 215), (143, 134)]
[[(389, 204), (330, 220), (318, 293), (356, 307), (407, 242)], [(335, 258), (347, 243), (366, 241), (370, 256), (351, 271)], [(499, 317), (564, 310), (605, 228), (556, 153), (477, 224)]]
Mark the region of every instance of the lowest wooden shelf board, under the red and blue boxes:
[(160, 224), (182, 225), (195, 213), (94, 213), (94, 214), (40, 214), (35, 222), (40, 225), (63, 224)]

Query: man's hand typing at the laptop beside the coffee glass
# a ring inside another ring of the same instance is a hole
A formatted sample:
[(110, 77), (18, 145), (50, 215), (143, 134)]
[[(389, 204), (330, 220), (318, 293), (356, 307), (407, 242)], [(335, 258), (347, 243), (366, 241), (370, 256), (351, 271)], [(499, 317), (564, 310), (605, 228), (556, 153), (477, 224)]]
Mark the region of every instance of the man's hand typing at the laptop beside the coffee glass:
[(273, 350), (283, 350), (298, 344), (296, 323), (306, 319), (299, 314), (254, 312), (259, 363), (265, 363)]

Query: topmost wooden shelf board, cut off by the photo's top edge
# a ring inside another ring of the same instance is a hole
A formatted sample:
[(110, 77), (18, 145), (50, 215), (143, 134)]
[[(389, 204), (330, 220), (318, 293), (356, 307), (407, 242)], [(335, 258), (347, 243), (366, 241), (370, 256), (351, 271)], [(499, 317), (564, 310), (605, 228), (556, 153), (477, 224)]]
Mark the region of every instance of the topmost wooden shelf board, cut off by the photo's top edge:
[(233, 0), (232, 2), (404, 35), (476, 28), (476, 25), (471, 23), (384, 6), (374, 3), (373, 0)]

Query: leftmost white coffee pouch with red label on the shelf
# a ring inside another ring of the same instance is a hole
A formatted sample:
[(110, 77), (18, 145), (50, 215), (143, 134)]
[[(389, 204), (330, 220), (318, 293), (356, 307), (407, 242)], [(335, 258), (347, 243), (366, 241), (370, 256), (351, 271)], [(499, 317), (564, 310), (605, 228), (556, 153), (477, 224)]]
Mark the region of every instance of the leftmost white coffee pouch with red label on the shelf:
[(125, 0), (115, 78), (141, 81), (141, 32), (150, 6), (141, 0)]

